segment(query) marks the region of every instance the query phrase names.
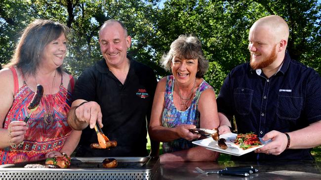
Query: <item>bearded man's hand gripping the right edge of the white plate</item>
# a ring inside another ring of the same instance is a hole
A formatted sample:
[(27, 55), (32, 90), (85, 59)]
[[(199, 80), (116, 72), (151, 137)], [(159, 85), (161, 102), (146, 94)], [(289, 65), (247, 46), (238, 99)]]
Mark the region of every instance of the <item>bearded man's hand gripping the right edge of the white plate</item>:
[(287, 137), (284, 133), (273, 130), (265, 134), (265, 136), (262, 138), (263, 141), (267, 141), (269, 139), (272, 141), (262, 148), (255, 150), (254, 152), (279, 155), (285, 150), (287, 145)]

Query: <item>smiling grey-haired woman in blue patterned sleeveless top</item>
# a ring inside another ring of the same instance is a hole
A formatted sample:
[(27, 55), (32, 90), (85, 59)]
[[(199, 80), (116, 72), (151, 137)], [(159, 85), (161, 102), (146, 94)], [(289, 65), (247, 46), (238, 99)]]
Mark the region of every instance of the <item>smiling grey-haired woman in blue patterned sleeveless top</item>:
[(219, 153), (196, 147), (193, 128), (219, 126), (215, 92), (202, 77), (208, 69), (201, 41), (180, 35), (162, 63), (172, 75), (162, 78), (155, 92), (149, 135), (163, 142), (162, 161), (214, 161)]

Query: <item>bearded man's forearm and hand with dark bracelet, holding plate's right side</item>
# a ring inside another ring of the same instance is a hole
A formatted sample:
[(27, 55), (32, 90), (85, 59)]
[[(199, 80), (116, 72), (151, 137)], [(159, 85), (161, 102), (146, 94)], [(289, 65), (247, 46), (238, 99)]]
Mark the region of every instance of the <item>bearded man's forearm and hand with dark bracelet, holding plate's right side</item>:
[[(287, 132), (290, 136), (289, 149), (309, 149), (321, 145), (321, 120), (310, 124), (309, 126)], [(262, 138), (263, 141), (271, 139), (272, 142), (264, 147), (257, 149), (255, 152), (279, 155), (287, 145), (287, 137), (279, 131), (270, 131)]]

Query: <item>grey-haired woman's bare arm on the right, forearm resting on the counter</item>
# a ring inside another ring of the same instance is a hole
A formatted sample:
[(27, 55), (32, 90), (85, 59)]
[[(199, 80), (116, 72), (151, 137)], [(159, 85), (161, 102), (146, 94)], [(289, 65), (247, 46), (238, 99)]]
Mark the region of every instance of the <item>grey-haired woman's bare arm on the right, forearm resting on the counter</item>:
[[(217, 114), (215, 93), (211, 89), (204, 90), (198, 103), (200, 116), (200, 127), (213, 129), (218, 127), (219, 119)], [(200, 146), (188, 150), (180, 150), (161, 155), (161, 162), (164, 161), (215, 161), (219, 153), (206, 150)]]

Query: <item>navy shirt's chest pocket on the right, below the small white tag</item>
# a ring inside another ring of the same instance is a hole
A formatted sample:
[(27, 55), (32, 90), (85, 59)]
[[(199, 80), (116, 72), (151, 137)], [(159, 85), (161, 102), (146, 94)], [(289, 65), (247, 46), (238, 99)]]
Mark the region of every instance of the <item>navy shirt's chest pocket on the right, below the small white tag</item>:
[(302, 97), (292, 96), (291, 92), (279, 92), (277, 115), (281, 119), (296, 120), (300, 117)]

